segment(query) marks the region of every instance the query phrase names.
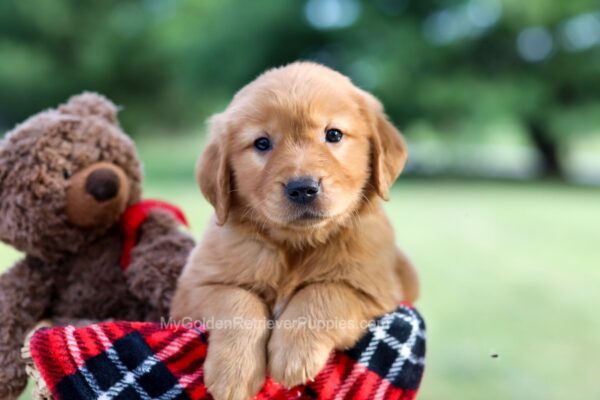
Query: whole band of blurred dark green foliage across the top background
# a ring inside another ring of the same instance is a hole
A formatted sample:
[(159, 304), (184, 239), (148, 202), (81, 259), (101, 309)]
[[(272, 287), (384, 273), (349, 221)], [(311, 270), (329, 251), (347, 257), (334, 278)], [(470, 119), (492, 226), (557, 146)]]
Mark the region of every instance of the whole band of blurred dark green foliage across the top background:
[(87, 89), (134, 135), (186, 130), (296, 59), (350, 75), (409, 133), (520, 126), (549, 174), (600, 126), (596, 0), (4, 0), (0, 126)]

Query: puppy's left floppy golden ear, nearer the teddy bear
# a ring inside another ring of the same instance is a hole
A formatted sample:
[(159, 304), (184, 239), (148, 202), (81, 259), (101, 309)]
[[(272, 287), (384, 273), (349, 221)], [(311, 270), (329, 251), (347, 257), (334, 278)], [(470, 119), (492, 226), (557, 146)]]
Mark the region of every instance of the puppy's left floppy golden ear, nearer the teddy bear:
[(211, 118), (209, 125), (211, 138), (198, 160), (196, 177), (202, 194), (215, 209), (217, 225), (223, 225), (227, 221), (231, 201), (226, 126), (219, 115)]

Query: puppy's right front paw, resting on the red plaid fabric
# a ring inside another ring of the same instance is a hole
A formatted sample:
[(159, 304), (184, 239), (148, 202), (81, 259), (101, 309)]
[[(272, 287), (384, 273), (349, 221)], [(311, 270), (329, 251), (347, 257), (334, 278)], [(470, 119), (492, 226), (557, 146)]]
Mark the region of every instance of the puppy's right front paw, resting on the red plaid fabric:
[(292, 339), (285, 330), (274, 331), (269, 341), (269, 374), (291, 388), (313, 379), (323, 369), (333, 346), (319, 340)]

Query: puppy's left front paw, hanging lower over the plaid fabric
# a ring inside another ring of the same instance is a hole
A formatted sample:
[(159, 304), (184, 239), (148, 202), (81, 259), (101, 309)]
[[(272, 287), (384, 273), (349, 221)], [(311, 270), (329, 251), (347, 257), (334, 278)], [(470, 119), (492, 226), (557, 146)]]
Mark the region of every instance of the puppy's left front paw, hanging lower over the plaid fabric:
[(215, 400), (251, 399), (264, 384), (264, 350), (237, 354), (232, 352), (235, 348), (209, 346), (204, 362), (204, 384)]

